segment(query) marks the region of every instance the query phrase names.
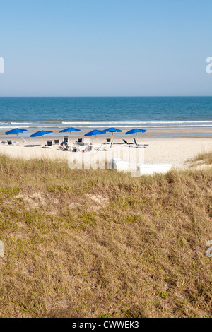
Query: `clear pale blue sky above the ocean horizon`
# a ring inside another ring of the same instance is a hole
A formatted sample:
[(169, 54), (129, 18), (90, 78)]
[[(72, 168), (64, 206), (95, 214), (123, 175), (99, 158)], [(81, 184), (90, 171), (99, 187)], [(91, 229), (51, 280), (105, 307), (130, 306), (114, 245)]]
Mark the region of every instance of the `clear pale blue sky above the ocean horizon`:
[(0, 0), (0, 96), (212, 95), (211, 0)]

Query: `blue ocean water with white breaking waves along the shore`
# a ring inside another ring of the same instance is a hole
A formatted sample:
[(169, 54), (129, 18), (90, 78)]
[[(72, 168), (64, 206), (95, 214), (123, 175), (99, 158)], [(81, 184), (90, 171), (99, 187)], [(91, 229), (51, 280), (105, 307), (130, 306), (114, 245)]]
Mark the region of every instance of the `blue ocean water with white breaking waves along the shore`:
[(212, 127), (212, 97), (0, 97), (0, 130)]

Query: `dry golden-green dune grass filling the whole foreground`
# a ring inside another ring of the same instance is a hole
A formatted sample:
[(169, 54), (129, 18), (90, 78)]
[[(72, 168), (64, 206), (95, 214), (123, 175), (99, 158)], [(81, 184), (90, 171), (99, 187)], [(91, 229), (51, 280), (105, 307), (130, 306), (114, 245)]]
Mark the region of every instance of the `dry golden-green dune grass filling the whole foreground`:
[(1, 317), (211, 317), (212, 170), (0, 156)]

